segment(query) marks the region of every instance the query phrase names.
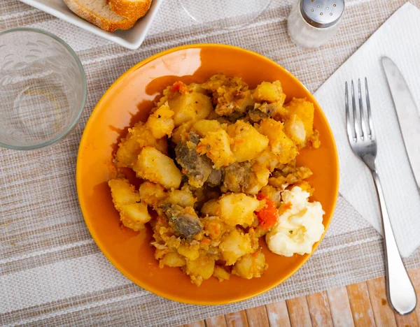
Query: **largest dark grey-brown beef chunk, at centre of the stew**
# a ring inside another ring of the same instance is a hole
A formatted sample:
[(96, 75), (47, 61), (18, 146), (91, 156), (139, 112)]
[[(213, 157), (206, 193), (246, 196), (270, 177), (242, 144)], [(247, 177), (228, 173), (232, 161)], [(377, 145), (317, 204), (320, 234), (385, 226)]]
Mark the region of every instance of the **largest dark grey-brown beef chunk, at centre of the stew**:
[(207, 181), (213, 163), (207, 156), (200, 156), (195, 151), (200, 137), (196, 133), (189, 133), (189, 141), (181, 141), (175, 147), (176, 162), (183, 168), (183, 173), (188, 176), (188, 183), (193, 187), (202, 187)]

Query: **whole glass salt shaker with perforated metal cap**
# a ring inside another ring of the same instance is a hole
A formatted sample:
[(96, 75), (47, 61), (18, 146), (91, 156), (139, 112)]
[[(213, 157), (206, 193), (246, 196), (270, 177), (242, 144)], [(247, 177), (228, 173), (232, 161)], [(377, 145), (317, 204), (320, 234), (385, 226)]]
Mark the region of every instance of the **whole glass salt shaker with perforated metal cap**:
[(297, 0), (288, 16), (288, 34), (303, 48), (327, 43), (339, 27), (344, 0)]

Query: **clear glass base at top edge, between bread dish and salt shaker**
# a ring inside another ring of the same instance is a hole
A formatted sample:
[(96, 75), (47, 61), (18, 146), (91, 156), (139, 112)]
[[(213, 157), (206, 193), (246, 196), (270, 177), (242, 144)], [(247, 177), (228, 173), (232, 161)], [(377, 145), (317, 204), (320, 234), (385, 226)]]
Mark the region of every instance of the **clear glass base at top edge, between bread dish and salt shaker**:
[(193, 20), (212, 29), (239, 29), (251, 24), (272, 0), (179, 0)]

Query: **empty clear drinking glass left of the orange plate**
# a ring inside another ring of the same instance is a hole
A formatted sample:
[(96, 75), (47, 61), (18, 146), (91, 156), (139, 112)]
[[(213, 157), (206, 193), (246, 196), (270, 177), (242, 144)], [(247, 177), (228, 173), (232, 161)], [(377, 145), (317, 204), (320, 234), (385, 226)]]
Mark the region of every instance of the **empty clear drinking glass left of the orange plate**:
[(76, 53), (46, 31), (0, 33), (0, 146), (45, 147), (76, 125), (86, 101)]

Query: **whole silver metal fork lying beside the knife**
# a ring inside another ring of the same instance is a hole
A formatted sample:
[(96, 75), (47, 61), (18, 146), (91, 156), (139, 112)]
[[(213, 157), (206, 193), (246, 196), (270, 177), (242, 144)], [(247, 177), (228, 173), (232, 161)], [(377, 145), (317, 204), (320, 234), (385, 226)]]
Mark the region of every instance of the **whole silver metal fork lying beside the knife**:
[(399, 314), (409, 314), (416, 307), (416, 293), (412, 282), (409, 280), (407, 270), (402, 263), (400, 252), (393, 235), (391, 221), (386, 210), (384, 192), (375, 166), (377, 156), (377, 138), (372, 124), (370, 112), (369, 90), (367, 89), (367, 78), (365, 78), (365, 97), (367, 114), (363, 109), (362, 92), (360, 90), (360, 78), (358, 79), (358, 109), (354, 96), (353, 80), (351, 81), (351, 106), (353, 115), (349, 108), (349, 90), (346, 82), (345, 106), (347, 136), (351, 150), (372, 173), (374, 185), (377, 189), (379, 206), (381, 208), (382, 228), (384, 231), (384, 254), (386, 266), (386, 291), (388, 300), (393, 309)]

